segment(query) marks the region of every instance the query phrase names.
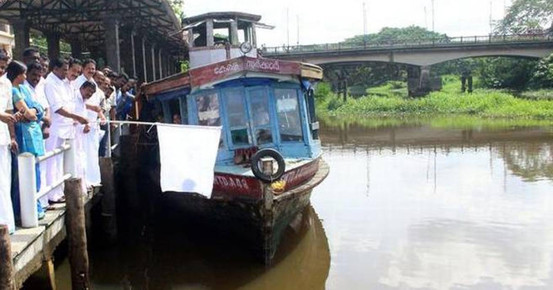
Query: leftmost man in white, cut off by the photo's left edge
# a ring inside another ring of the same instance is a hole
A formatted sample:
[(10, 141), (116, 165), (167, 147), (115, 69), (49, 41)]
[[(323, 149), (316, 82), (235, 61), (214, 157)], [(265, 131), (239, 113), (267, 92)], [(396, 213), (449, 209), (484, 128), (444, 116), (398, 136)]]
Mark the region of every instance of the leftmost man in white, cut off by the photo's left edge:
[[(6, 55), (0, 54), (0, 61)], [(7, 61), (6, 61), (7, 63)], [(0, 76), (3, 75), (3, 66)], [(12, 86), (6, 77), (0, 77), (0, 224), (6, 224), (8, 231), (15, 231), (15, 219), (10, 196), (12, 185), (12, 151), (17, 151), (13, 124), (17, 119), (12, 115)]]

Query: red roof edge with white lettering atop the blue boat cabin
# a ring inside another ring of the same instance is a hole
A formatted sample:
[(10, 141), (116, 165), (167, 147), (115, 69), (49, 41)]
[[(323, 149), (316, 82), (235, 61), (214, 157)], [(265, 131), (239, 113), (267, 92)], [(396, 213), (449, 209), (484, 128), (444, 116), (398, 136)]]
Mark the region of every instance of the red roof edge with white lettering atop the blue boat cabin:
[(278, 59), (263, 59), (254, 57), (238, 57), (215, 64), (209, 64), (199, 68), (180, 72), (165, 79), (144, 84), (142, 91), (147, 99), (155, 99), (159, 95), (167, 95), (176, 90), (194, 90), (212, 86), (214, 84), (233, 79), (236, 75), (241, 77), (247, 73), (263, 75), (268, 78), (296, 75), (302, 79), (319, 81), (323, 79), (323, 69), (314, 64), (306, 64), (297, 61), (282, 61)]

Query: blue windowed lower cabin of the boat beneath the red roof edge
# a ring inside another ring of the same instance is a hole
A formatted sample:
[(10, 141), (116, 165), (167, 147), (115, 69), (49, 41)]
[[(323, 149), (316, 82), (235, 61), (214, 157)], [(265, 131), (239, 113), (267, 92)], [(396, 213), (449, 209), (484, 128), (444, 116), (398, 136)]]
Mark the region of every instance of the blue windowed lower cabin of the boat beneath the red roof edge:
[(275, 148), (287, 159), (321, 153), (315, 101), (308, 80), (248, 77), (190, 92), (175, 90), (153, 99), (159, 121), (222, 126), (217, 164), (238, 164), (261, 148)]

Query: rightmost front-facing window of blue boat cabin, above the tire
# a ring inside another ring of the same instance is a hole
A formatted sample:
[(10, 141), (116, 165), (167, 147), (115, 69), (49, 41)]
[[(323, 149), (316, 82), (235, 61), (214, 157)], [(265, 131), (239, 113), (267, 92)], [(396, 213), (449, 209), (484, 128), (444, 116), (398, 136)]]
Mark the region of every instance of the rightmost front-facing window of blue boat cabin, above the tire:
[(279, 133), (281, 140), (301, 141), (301, 121), (299, 119), (299, 101), (297, 90), (277, 88), (274, 90), (279, 116)]

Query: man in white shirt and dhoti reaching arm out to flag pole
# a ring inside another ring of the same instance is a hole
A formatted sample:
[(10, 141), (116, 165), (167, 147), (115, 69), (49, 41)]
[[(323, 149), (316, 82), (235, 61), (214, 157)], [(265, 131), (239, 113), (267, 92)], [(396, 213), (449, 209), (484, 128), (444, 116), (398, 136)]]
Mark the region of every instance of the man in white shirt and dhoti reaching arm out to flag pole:
[[(79, 124), (88, 124), (84, 116), (74, 113), (75, 95), (69, 85), (66, 75), (68, 72), (68, 63), (65, 59), (56, 58), (50, 60), (52, 72), (46, 77), (44, 84), (44, 93), (50, 110), (52, 112), (52, 126), (50, 126), (50, 137), (46, 139), (46, 151), (53, 151), (62, 146), (65, 139), (75, 138), (75, 122)], [(47, 184), (53, 184), (62, 179), (64, 175), (63, 155), (56, 155), (50, 158), (46, 164), (48, 173), (46, 174)], [(64, 187), (58, 186), (48, 194), (50, 202), (64, 202)]]

